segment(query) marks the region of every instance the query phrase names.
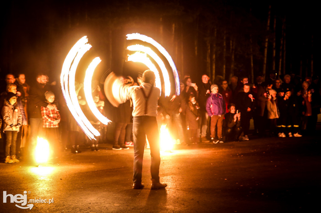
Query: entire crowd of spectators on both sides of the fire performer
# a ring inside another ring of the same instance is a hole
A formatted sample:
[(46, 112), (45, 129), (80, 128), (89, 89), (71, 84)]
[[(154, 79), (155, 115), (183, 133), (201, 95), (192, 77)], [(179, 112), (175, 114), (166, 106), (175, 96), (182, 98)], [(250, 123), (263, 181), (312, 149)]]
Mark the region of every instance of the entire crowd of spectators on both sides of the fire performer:
[[(5, 162), (19, 162), (23, 154), (32, 155), (38, 137), (48, 139), (54, 156), (67, 148), (72, 153), (81, 153), (81, 141), (86, 137), (68, 110), (59, 86), (55, 81), (49, 84), (45, 74), (38, 74), (34, 83), (28, 80), (31, 86), (22, 73), (7, 74), (5, 82), (1, 83), (0, 126)], [(123, 80), (125, 84), (136, 84), (130, 76)], [(301, 81), (297, 76), (280, 78), (271, 73), (266, 81), (263, 76), (257, 76), (254, 83), (249, 83), (245, 76), (232, 76), (229, 81), (216, 76), (212, 84), (204, 74), (200, 80), (197, 85), (190, 76), (185, 76), (180, 83), (180, 95), (162, 95), (159, 99), (159, 129), (167, 125), (178, 144), (242, 141), (256, 134), (259, 137), (301, 137), (316, 130), (321, 101), (318, 76)], [(106, 114), (107, 101), (99, 83), (96, 81), (92, 85), (96, 107)], [(86, 111), (82, 87), (81, 83), (75, 83), (79, 105)], [(113, 110), (114, 150), (134, 146), (132, 111), (130, 100)], [(253, 131), (250, 131), (251, 119)], [(98, 140), (87, 139), (91, 150), (98, 151), (99, 141), (107, 140), (106, 125), (94, 117), (89, 116), (89, 120), (102, 135)]]

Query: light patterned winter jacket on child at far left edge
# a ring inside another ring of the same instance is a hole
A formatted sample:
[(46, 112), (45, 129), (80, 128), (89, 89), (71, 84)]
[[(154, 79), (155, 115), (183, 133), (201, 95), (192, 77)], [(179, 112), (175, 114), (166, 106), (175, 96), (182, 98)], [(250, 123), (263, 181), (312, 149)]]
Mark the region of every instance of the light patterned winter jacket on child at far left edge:
[(3, 117), (3, 131), (13, 131), (13, 126), (20, 127), (22, 125), (22, 114), (17, 104), (11, 105), (9, 101), (4, 100), (1, 114)]

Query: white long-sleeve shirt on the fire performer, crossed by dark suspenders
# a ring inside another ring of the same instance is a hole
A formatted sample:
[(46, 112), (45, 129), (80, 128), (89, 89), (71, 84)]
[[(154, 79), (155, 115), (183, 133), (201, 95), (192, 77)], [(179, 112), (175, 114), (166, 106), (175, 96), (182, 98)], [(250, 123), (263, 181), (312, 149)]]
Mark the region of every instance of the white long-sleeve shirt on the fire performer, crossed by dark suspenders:
[(149, 99), (147, 100), (147, 113), (145, 114), (145, 106), (146, 106), (146, 99), (141, 91), (143, 88), (145, 95), (148, 96), (152, 84), (150, 83), (142, 83), (140, 86), (128, 86), (122, 84), (119, 87), (119, 99), (120, 103), (125, 103), (126, 100), (132, 99), (133, 100), (133, 116), (157, 116), (157, 102), (160, 97), (160, 89), (158, 87), (153, 87), (152, 94), (150, 95)]

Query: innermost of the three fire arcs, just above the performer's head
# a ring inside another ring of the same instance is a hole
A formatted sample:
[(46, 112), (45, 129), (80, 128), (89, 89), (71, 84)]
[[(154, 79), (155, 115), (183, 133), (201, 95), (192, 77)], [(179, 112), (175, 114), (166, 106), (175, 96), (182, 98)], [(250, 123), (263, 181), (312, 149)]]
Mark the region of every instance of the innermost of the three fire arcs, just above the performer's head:
[(152, 70), (155, 73), (156, 79), (155, 79), (155, 84), (156, 87), (161, 88), (160, 84), (160, 75), (158, 73), (157, 68), (155, 65), (152, 63), (151, 59), (147, 57), (146, 53), (141, 53), (141, 52), (135, 52), (132, 55), (128, 55), (128, 61), (133, 61), (133, 62), (140, 62), (146, 65), (148, 69)]

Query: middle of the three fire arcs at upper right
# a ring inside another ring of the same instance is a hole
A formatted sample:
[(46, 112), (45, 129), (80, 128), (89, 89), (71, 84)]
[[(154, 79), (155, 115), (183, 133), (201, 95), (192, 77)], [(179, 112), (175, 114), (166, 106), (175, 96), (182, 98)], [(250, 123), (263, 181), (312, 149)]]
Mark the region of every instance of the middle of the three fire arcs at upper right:
[[(170, 81), (169, 81), (169, 75), (168, 75), (168, 72), (167, 72), (167, 69), (165, 67), (165, 64), (164, 62), (160, 59), (160, 57), (154, 52), (152, 51), (151, 48), (149, 47), (145, 47), (143, 45), (140, 45), (140, 44), (135, 44), (135, 45), (131, 45), (131, 46), (128, 46), (127, 47), (128, 50), (130, 51), (141, 51), (141, 52), (145, 52), (146, 54), (150, 55), (152, 57), (152, 59), (154, 59), (156, 61), (156, 63), (158, 64), (158, 66), (160, 67), (160, 70), (163, 74), (163, 78), (164, 78), (164, 84), (165, 84), (165, 88), (164, 88), (164, 93), (165, 93), (165, 96), (169, 96), (170, 95)], [(147, 56), (146, 56), (147, 58)], [(139, 60), (139, 59), (137, 59)], [(150, 61), (150, 60), (149, 60)], [(145, 62), (148, 63), (148, 61), (146, 61), (145, 59), (140, 59), (139, 62), (142, 62), (145, 64)], [(152, 62), (152, 61), (150, 61)], [(147, 67), (149, 67), (148, 65), (150, 64), (145, 64)], [(154, 65), (155, 67), (155, 65)], [(153, 67), (152, 67), (153, 68)], [(155, 67), (156, 68), (156, 67)], [(156, 71), (155, 72), (155, 76), (157, 76), (156, 80), (159, 82), (160, 84), (160, 74), (158, 73), (158, 70), (152, 70), (152, 71)], [(156, 82), (156, 81), (155, 81)], [(157, 85), (156, 85), (157, 86)], [(158, 87), (158, 86), (157, 86)], [(161, 87), (159, 87), (161, 88)]]

